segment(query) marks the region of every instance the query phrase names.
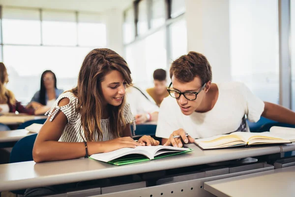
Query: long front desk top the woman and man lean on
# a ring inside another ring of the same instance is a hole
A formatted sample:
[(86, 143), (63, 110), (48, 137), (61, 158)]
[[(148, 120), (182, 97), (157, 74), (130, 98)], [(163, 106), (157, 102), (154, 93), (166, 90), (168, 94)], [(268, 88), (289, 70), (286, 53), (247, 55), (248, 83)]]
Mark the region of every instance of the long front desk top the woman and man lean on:
[(280, 146), (206, 151), (202, 151), (194, 144), (189, 144), (187, 146), (194, 149), (194, 151), (183, 155), (122, 166), (98, 162), (91, 159), (77, 159), (40, 164), (36, 164), (33, 161), (1, 164), (0, 191), (123, 176), (281, 152)]

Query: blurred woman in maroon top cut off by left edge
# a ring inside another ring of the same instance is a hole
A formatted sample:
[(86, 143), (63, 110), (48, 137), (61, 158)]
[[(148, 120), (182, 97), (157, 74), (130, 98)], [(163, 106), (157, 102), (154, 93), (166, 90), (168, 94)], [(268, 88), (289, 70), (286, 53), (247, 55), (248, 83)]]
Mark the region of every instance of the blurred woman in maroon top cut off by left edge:
[(44, 114), (46, 111), (50, 109), (50, 107), (39, 107), (38, 109), (28, 109), (24, 107), (21, 102), (18, 102), (14, 94), (6, 89), (5, 85), (8, 83), (8, 74), (6, 67), (3, 63), (0, 63), (0, 112), (15, 113), (18, 111), (19, 113), (26, 113), (30, 115), (40, 115)]

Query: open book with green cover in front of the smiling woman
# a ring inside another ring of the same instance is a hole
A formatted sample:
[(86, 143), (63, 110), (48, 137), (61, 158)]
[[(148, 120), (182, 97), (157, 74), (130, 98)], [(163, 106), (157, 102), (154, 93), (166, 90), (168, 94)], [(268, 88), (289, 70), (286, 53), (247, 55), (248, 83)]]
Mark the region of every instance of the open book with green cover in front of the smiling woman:
[(178, 155), (190, 151), (192, 151), (192, 149), (173, 146), (137, 146), (136, 148), (121, 148), (109, 153), (93, 154), (89, 158), (109, 164), (124, 165)]

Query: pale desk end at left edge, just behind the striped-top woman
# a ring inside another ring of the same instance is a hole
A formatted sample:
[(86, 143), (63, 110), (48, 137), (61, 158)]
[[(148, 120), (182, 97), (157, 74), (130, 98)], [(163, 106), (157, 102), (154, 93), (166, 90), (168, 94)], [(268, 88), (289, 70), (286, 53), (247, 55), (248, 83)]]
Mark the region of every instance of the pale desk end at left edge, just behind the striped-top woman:
[(11, 131), (0, 131), (0, 143), (1, 142), (16, 142), (23, 137), (34, 134), (25, 129), (23, 130), (11, 130)]

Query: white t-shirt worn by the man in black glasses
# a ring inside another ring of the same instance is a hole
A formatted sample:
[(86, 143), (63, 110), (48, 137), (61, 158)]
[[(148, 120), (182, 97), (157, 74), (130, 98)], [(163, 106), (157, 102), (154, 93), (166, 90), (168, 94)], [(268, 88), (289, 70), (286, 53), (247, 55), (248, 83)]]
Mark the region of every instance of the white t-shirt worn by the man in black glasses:
[(219, 95), (214, 107), (205, 113), (184, 115), (177, 100), (167, 97), (160, 106), (156, 136), (169, 138), (183, 129), (193, 138), (205, 138), (234, 131), (249, 131), (245, 115), (257, 122), (264, 111), (264, 102), (239, 82), (217, 84)]

